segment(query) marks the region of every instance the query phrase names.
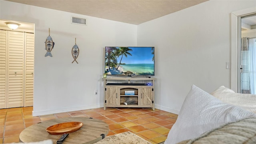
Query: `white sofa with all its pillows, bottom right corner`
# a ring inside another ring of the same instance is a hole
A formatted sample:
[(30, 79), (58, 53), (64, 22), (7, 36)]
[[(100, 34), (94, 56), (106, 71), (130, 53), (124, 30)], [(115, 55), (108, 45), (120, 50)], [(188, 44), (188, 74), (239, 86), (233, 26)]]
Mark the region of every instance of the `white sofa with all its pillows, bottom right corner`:
[(164, 144), (256, 144), (256, 95), (192, 86)]

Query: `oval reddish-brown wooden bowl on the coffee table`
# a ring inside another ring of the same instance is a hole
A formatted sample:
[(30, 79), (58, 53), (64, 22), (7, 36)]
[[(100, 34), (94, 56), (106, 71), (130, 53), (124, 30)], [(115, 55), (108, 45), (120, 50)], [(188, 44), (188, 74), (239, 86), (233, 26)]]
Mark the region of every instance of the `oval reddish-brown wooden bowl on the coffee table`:
[(67, 134), (79, 130), (82, 126), (82, 122), (63, 122), (49, 126), (46, 131), (53, 135)]

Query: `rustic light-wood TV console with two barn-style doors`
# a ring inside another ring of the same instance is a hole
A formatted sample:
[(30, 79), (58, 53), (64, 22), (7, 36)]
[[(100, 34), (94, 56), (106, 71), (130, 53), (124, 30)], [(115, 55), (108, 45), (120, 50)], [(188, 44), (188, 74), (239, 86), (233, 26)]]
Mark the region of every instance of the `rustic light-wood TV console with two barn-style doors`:
[[(104, 110), (106, 107), (152, 108), (156, 78), (114, 77), (104, 80)], [(108, 83), (110, 81), (111, 83)]]

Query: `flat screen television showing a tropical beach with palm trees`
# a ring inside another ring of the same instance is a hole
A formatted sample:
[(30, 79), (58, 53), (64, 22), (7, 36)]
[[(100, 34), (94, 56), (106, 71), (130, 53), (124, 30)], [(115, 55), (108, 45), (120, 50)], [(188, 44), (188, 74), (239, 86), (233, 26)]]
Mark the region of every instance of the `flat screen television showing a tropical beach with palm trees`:
[(154, 47), (105, 47), (105, 73), (123, 76), (154, 76)]

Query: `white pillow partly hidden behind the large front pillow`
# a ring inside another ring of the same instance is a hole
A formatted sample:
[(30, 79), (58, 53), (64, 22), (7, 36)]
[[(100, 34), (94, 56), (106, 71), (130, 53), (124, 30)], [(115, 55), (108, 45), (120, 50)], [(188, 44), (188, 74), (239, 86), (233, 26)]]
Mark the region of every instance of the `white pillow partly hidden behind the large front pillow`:
[(256, 94), (240, 94), (224, 86), (220, 86), (211, 94), (222, 102), (256, 113)]

